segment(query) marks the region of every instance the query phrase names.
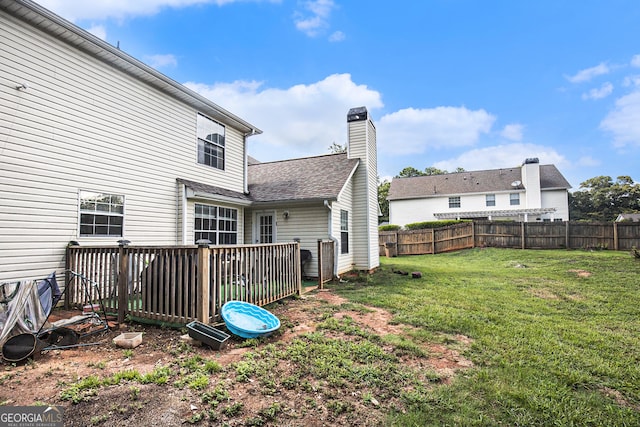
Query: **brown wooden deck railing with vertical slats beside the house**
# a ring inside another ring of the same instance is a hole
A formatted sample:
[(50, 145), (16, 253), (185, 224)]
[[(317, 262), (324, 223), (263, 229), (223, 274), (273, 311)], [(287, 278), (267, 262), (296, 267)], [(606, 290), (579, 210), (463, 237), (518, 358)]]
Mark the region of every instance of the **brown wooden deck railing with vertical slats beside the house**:
[[(219, 319), (227, 302), (256, 305), (299, 294), (298, 243), (239, 246), (67, 248), (65, 305), (101, 301), (105, 309), (167, 323)], [(86, 285), (89, 286), (86, 286)]]

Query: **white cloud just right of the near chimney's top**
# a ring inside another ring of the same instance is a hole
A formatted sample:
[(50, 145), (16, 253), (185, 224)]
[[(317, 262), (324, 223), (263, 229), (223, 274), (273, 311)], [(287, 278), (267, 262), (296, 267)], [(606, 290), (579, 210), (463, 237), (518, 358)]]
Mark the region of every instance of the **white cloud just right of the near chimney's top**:
[(465, 107), (407, 108), (383, 116), (377, 125), (378, 149), (389, 155), (423, 153), (429, 148), (475, 144), (495, 117)]

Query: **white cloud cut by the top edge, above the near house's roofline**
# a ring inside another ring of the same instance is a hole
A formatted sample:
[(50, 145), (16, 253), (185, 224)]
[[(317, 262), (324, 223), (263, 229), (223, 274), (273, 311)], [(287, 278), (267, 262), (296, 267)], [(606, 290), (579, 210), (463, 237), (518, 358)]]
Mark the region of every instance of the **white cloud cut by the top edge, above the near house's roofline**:
[[(76, 22), (82, 19), (104, 20), (149, 16), (168, 7), (178, 9), (207, 3), (222, 6), (237, 1), (241, 0), (38, 0), (38, 3), (65, 19)], [(280, 0), (265, 1), (279, 2)]]

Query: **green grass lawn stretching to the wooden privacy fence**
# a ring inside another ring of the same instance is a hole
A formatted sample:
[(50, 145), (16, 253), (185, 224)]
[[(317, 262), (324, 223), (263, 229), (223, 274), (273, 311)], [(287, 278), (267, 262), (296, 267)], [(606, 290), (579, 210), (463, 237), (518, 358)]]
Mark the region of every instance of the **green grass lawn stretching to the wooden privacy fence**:
[(640, 261), (629, 253), (488, 248), (381, 264), (365, 284), (332, 287), (417, 326), (416, 342), (468, 336), (475, 364), (389, 424), (640, 425)]

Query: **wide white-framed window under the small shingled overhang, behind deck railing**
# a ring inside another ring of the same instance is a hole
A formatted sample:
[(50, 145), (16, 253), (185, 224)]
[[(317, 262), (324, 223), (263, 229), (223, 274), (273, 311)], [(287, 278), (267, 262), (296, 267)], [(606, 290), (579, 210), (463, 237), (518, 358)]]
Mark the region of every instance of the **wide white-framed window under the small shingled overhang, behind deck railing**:
[(213, 245), (238, 243), (238, 210), (220, 206), (195, 206), (195, 242), (209, 240)]

